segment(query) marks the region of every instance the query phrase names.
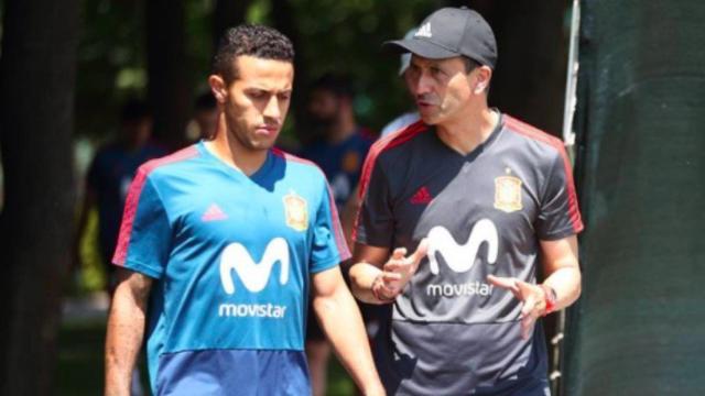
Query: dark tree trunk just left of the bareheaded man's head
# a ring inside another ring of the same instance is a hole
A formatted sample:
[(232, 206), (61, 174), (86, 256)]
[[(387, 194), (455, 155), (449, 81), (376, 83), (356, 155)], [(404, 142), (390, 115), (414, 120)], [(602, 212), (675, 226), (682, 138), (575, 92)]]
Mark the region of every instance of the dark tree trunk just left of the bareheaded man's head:
[(184, 2), (147, 0), (148, 98), (154, 136), (181, 147), (192, 111), (192, 87), (185, 54)]

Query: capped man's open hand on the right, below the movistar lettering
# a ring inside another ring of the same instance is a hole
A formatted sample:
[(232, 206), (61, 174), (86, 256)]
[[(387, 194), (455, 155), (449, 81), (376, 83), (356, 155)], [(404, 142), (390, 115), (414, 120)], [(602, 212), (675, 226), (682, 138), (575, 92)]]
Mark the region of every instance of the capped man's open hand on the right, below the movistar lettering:
[(488, 275), (487, 280), (497, 287), (511, 292), (521, 306), (521, 338), (531, 337), (536, 319), (546, 314), (546, 292), (539, 285), (532, 285), (512, 277)]

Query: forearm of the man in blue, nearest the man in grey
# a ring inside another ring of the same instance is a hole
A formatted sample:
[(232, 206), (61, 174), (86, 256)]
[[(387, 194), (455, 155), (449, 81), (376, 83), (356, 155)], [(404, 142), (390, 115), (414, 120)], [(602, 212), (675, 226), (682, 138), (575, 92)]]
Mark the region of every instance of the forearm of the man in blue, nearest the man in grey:
[(365, 395), (383, 394), (362, 317), (347, 287), (315, 297), (313, 308), (338, 359)]

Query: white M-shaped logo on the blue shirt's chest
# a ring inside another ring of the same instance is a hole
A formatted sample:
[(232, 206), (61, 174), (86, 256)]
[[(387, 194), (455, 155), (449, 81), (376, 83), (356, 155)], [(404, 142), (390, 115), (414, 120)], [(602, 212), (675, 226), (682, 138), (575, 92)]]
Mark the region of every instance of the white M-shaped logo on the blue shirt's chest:
[(229, 244), (220, 256), (220, 283), (229, 295), (235, 293), (232, 271), (245, 287), (253, 293), (261, 292), (269, 280), (274, 263), (280, 263), (279, 283), (289, 282), (289, 245), (283, 238), (274, 238), (269, 242), (262, 260), (256, 263), (250, 253), (240, 243)]

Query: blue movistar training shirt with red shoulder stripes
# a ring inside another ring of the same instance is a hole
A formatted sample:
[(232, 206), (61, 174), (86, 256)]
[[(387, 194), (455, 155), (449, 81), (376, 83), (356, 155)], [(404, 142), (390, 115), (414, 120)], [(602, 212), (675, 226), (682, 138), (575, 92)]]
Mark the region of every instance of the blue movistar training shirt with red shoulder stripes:
[(141, 166), (113, 263), (155, 279), (152, 392), (310, 394), (308, 279), (350, 255), (337, 219), (323, 173), (279, 150), (249, 177), (203, 142)]

